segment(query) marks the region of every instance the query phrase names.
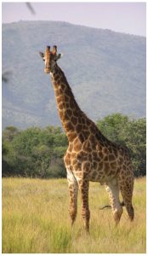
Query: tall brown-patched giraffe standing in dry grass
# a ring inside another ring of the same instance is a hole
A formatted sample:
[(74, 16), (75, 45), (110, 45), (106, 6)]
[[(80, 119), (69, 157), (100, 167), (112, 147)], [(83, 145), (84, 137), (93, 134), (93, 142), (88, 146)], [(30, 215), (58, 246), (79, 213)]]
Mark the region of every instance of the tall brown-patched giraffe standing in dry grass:
[[(44, 73), (50, 73), (60, 120), (69, 142), (64, 162), (70, 196), (71, 225), (77, 217), (79, 190), (83, 226), (89, 231), (89, 181), (105, 185), (116, 225), (122, 216), (123, 205), (128, 212), (128, 218), (133, 221), (134, 168), (127, 149), (104, 137), (94, 122), (79, 108), (65, 74), (57, 64), (61, 57), (57, 53), (57, 46), (54, 45), (52, 50), (47, 46), (45, 53), (40, 52), (40, 55), (45, 61)], [(123, 203), (119, 200), (119, 191)]]

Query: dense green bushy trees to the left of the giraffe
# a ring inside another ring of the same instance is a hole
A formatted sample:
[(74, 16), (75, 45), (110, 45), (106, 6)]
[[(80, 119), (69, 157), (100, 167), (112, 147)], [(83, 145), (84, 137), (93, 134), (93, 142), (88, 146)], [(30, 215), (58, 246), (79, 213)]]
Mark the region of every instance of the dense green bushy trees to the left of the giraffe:
[(60, 127), (3, 131), (3, 176), (65, 177), (67, 139)]

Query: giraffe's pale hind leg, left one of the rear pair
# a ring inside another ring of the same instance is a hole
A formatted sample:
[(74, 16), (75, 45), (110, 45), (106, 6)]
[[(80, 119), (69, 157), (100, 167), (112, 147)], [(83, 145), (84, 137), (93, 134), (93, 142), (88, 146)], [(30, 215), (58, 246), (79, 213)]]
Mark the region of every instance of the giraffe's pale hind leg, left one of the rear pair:
[(109, 194), (111, 202), (111, 209), (116, 224), (119, 224), (120, 218), (122, 217), (122, 204), (119, 200), (119, 188), (117, 179), (112, 179), (105, 185), (105, 189)]

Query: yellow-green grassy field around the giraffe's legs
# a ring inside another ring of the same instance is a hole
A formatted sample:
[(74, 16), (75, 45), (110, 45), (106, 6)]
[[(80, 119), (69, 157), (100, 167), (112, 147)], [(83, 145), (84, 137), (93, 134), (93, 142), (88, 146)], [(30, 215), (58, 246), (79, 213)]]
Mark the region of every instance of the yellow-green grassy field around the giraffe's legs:
[(124, 208), (115, 228), (105, 188), (90, 183), (90, 234), (81, 202), (71, 230), (66, 179), (3, 178), (3, 253), (146, 253), (146, 179), (134, 182), (134, 223)]

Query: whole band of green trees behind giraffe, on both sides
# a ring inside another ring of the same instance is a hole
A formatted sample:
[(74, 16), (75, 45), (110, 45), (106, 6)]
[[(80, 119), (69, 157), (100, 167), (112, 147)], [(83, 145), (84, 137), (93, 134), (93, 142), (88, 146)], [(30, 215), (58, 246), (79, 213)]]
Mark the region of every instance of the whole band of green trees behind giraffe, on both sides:
[[(146, 122), (114, 113), (97, 122), (100, 131), (112, 142), (129, 148), (134, 175), (146, 173)], [(66, 177), (63, 156), (68, 146), (60, 127), (31, 127), (19, 130), (14, 126), (3, 131), (3, 176)]]

